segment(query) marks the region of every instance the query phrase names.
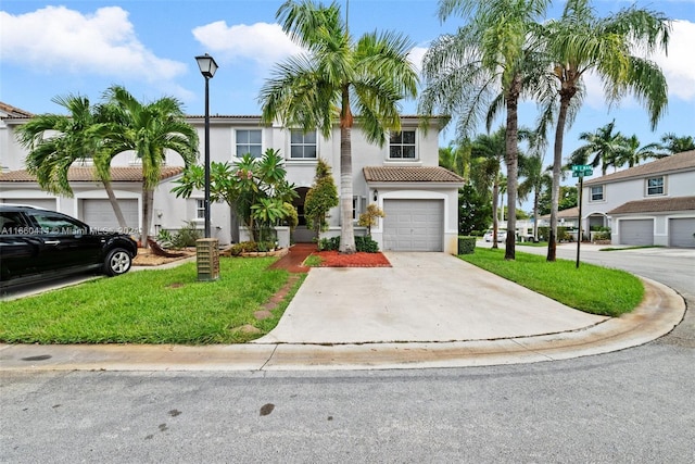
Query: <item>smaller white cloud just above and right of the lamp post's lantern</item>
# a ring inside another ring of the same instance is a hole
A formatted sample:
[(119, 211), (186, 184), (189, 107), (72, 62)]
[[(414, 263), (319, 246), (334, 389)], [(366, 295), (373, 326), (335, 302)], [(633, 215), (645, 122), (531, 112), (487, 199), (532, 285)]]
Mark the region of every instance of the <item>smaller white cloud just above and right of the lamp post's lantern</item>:
[(227, 60), (251, 60), (261, 68), (271, 67), (302, 51), (278, 24), (228, 26), (226, 22), (217, 21), (195, 27), (193, 36), (211, 53), (220, 53)]

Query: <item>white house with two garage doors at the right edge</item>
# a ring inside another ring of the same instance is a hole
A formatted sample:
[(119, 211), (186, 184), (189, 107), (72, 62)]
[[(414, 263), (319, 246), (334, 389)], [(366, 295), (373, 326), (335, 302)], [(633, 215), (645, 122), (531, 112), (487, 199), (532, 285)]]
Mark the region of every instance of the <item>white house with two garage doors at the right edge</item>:
[(616, 244), (695, 248), (695, 150), (584, 181), (582, 227)]

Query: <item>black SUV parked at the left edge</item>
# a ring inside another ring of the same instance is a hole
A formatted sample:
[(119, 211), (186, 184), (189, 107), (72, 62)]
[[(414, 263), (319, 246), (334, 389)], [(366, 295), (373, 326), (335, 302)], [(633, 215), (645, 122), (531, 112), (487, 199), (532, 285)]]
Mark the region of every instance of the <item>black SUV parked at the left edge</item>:
[(54, 211), (0, 204), (0, 288), (87, 271), (124, 274), (137, 253), (128, 235)]

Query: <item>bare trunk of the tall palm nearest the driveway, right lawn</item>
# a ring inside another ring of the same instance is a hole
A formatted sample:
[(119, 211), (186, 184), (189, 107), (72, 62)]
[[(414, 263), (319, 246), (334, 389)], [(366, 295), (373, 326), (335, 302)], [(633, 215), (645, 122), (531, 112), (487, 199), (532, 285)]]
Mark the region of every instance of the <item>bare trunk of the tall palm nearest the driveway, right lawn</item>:
[(516, 258), (516, 229), (517, 229), (517, 180), (519, 171), (518, 155), (518, 104), (519, 93), (521, 90), (521, 76), (514, 76), (507, 92), (507, 241), (504, 253), (505, 260), (514, 260)]

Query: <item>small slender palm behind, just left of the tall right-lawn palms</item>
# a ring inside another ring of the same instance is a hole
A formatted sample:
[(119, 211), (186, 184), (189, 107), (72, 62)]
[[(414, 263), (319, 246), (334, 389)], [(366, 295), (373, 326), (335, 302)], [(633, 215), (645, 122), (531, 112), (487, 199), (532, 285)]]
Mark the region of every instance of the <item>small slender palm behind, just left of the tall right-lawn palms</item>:
[(489, 190), (492, 187), (492, 248), (497, 248), (497, 202), (500, 201), (502, 176), (502, 162), (506, 154), (505, 128), (500, 127), (492, 134), (477, 136), (470, 147), (470, 155), (476, 160), (478, 185), (484, 185)]

